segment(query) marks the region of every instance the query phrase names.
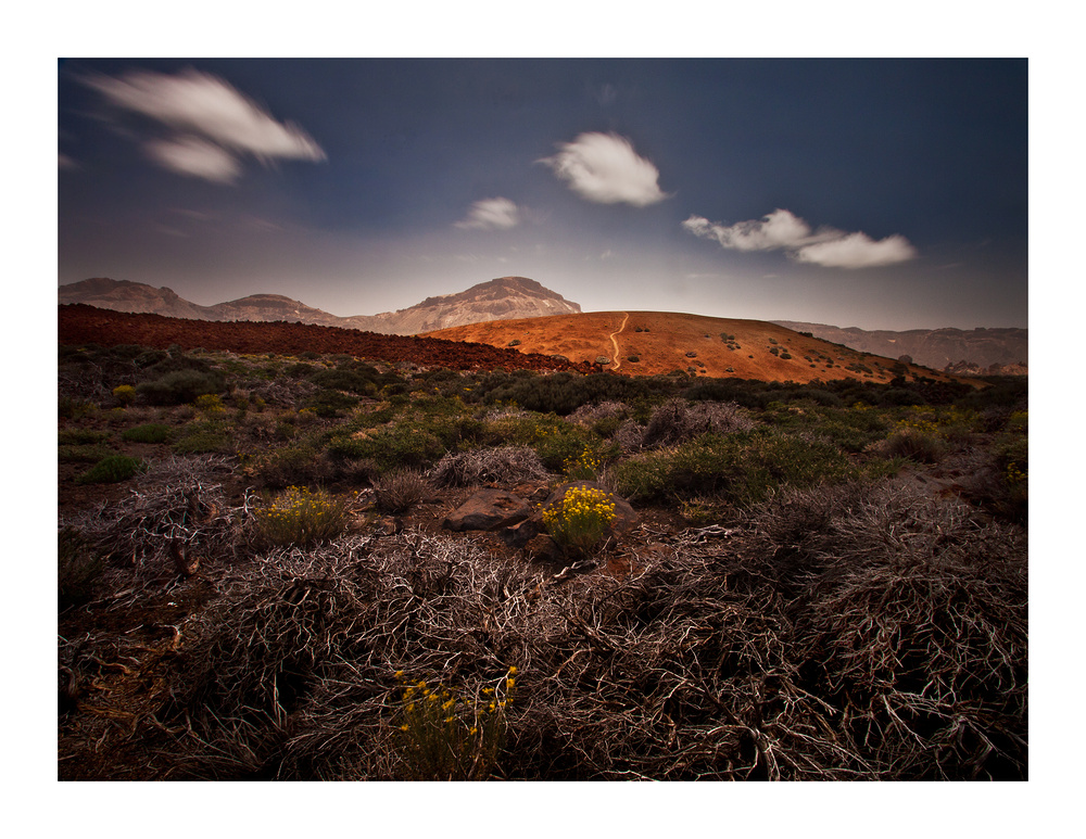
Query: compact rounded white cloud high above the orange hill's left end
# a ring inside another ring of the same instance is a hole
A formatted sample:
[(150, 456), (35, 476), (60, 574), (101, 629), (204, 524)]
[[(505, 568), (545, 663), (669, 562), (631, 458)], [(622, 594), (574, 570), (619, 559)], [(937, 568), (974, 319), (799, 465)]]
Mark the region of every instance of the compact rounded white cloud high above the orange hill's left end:
[(660, 173), (624, 137), (582, 134), (573, 142), (559, 143), (558, 149), (558, 154), (536, 162), (550, 166), (588, 201), (644, 207), (668, 198), (658, 183)]

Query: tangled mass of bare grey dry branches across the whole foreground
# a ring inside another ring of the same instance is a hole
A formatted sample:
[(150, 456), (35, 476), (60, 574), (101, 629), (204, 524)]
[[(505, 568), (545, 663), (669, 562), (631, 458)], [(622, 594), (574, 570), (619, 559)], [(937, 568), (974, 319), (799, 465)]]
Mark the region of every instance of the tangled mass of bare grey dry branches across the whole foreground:
[(268, 554), (190, 619), (173, 775), (406, 777), (396, 672), (471, 696), (515, 664), (497, 777), (1023, 777), (1020, 532), (834, 492), (631, 547), (624, 576), (420, 532)]

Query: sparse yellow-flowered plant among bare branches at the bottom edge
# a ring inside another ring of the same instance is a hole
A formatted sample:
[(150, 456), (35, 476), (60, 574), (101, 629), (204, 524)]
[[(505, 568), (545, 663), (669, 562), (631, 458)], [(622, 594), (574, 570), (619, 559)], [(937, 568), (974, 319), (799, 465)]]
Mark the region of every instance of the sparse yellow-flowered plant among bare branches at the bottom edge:
[(473, 697), (455, 688), (411, 682), (396, 671), (400, 709), (393, 741), (416, 780), (485, 780), (505, 743), (517, 669), (509, 668)]

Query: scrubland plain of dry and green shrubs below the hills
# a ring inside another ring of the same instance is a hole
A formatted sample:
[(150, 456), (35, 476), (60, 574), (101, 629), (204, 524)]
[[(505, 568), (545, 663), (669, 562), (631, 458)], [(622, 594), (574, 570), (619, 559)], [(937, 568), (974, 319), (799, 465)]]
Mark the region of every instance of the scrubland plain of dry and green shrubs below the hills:
[(1027, 776), (1024, 380), (59, 372), (62, 777)]

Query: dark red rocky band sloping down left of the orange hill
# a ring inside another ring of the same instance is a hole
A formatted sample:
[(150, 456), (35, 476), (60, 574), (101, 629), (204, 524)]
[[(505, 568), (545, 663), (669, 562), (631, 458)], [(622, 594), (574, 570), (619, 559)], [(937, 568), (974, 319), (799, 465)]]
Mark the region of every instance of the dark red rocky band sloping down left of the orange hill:
[(298, 355), (306, 351), (344, 353), (356, 358), (412, 361), (424, 367), (455, 370), (572, 370), (581, 373), (598, 370), (591, 364), (563, 361), (548, 355), (518, 353), (489, 344), (381, 335), (312, 323), (184, 320), (112, 312), (83, 304), (59, 306), (58, 312), (61, 344), (139, 344), (159, 349), (177, 344), (185, 349), (203, 347), (276, 355)]

